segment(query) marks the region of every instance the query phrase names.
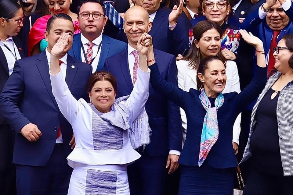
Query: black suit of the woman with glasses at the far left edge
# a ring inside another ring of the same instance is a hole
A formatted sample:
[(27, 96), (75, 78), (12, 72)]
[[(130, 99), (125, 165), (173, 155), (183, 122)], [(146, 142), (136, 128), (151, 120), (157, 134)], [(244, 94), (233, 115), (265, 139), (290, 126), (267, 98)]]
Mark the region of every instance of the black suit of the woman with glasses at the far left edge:
[[(21, 58), (24, 58), (21, 41), (13, 37)], [(0, 93), (9, 78), (9, 68), (5, 54), (0, 48)], [(16, 194), (15, 190), (15, 165), (12, 164), (13, 145), (15, 132), (5, 121), (2, 112), (0, 113), (0, 192), (3, 194)]]

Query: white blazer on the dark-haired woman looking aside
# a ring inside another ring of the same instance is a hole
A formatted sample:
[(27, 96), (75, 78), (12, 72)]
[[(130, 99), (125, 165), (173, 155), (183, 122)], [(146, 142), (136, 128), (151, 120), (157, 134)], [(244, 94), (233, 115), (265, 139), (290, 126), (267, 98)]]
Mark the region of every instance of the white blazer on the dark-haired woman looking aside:
[[(186, 60), (179, 60), (176, 62), (177, 69), (178, 69), (178, 87), (183, 89), (184, 91), (189, 91), (190, 88), (197, 89), (197, 71), (192, 69), (192, 67), (188, 66), (189, 61)], [(236, 91), (240, 93), (240, 83), (239, 83), (239, 76), (237, 65), (235, 62), (228, 60), (227, 67), (226, 67), (226, 75), (227, 81), (225, 89), (223, 90), (224, 93), (229, 93)], [(182, 147), (185, 143), (186, 138), (186, 128), (187, 128), (187, 119), (185, 112), (182, 108), (180, 108), (181, 112), (181, 119), (182, 119), (182, 126), (183, 126), (183, 140), (182, 140)], [(241, 122), (241, 113), (237, 116), (237, 119), (233, 126), (233, 142), (239, 145), (239, 135), (240, 135), (240, 122)]]

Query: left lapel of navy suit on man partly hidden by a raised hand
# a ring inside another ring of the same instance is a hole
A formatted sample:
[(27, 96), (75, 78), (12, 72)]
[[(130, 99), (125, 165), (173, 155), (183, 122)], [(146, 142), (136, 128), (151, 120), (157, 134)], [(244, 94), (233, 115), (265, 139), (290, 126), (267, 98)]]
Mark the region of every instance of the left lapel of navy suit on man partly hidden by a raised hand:
[(59, 110), (57, 102), (55, 100), (55, 97), (52, 94), (52, 86), (51, 86), (51, 80), (50, 80), (50, 75), (49, 75), (49, 65), (48, 65), (48, 60), (47, 60), (47, 56), (46, 56), (46, 51), (43, 51), (39, 55), (36, 66), (42, 76), (43, 82), (47, 88), (47, 91), (48, 91), (55, 107)]

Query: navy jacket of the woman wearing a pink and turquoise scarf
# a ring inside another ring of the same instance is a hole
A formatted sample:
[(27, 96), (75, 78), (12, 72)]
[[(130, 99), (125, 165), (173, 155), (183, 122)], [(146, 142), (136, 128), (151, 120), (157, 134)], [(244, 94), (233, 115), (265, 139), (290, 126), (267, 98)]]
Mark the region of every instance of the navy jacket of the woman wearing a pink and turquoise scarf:
[[(259, 67), (259, 66), (258, 66)], [(169, 100), (183, 108), (187, 117), (187, 134), (179, 163), (188, 166), (198, 166), (201, 132), (206, 110), (201, 104), (201, 91), (190, 89), (186, 92), (160, 75), (157, 65), (150, 68), (150, 83), (155, 90), (160, 91)], [(219, 138), (209, 152), (206, 161), (214, 168), (236, 167), (237, 160), (232, 146), (233, 125), (238, 114), (261, 93), (266, 84), (267, 68), (259, 67), (258, 76), (239, 94), (231, 92), (223, 94), (225, 101), (217, 111)]]

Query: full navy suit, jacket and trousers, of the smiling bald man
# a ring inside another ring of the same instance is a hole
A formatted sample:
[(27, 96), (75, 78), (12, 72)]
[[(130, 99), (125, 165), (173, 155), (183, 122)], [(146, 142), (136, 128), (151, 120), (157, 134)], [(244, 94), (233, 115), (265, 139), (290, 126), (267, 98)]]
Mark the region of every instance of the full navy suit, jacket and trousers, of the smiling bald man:
[[(164, 78), (175, 86), (177, 69), (175, 56), (154, 49), (155, 59)], [(117, 63), (119, 62), (119, 63)], [(124, 50), (105, 61), (105, 70), (112, 73), (118, 82), (117, 97), (131, 93), (133, 84), (128, 66), (128, 51)], [(164, 190), (165, 166), (169, 150), (181, 151), (182, 124), (179, 107), (156, 92), (152, 86), (145, 105), (152, 129), (150, 144), (139, 149), (143, 155), (128, 166), (128, 179), (131, 194), (162, 194)]]

